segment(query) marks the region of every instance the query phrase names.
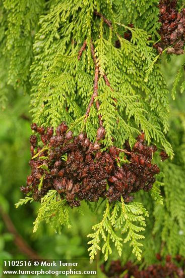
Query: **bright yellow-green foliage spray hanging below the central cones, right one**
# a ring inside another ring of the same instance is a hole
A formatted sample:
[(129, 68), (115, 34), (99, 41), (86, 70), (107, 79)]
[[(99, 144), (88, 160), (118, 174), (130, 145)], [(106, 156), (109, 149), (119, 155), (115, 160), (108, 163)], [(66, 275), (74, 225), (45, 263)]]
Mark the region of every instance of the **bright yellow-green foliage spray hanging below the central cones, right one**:
[(94, 259), (97, 254), (97, 249), (101, 250), (99, 246), (101, 242), (100, 235), (105, 242), (102, 247), (102, 253), (105, 254), (105, 261), (108, 259), (108, 254), (112, 253), (110, 241), (114, 243), (119, 256), (121, 256), (122, 238), (117, 237), (115, 233), (116, 230), (120, 230), (121, 234), (127, 233), (124, 243), (131, 242), (132, 252), (138, 260), (141, 260), (142, 250), (140, 247), (143, 244), (139, 240), (143, 239), (144, 236), (139, 233), (145, 230), (144, 216), (149, 215), (141, 203), (126, 205), (122, 198), (121, 202), (116, 202), (114, 206), (110, 206), (107, 202), (102, 221), (92, 227), (95, 233), (88, 235), (88, 237), (92, 238), (88, 242), (88, 244), (91, 244), (91, 247), (88, 249), (90, 251), (90, 258)]

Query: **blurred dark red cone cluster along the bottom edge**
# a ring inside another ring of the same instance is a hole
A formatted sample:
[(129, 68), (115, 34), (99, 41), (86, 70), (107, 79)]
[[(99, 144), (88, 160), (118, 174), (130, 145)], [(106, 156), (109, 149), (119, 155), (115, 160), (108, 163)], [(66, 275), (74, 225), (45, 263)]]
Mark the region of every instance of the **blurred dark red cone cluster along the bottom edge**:
[[(162, 260), (160, 254), (156, 254), (159, 261)], [(176, 262), (171, 261), (171, 256), (167, 255), (165, 264), (152, 264), (145, 269), (141, 269), (138, 265), (128, 261), (125, 265), (121, 265), (120, 260), (111, 261), (109, 268), (105, 269), (105, 264), (100, 266), (101, 271), (107, 277), (117, 278), (166, 278), (166, 277), (184, 277), (185, 260), (180, 255), (176, 255)], [(179, 264), (180, 266), (178, 266)], [(127, 271), (126, 274), (122, 274)]]

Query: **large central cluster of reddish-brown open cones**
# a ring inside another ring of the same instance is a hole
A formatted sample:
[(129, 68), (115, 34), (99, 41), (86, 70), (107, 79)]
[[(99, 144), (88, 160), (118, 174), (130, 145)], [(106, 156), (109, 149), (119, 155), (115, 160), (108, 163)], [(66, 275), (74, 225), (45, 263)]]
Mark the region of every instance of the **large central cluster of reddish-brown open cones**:
[[(132, 151), (129, 143), (126, 150), (111, 146), (102, 151), (103, 127), (98, 128), (95, 143), (84, 133), (74, 137), (65, 122), (56, 128), (56, 135), (52, 127), (45, 129), (34, 123), (31, 128), (40, 135), (44, 147), (37, 146), (37, 136), (31, 135), (31, 175), (21, 191), (31, 193), (36, 201), (55, 189), (71, 207), (80, 206), (84, 199), (96, 202), (100, 197), (113, 202), (122, 196), (125, 202), (130, 202), (132, 193), (141, 189), (149, 191), (155, 182), (154, 175), (160, 172), (151, 163), (157, 147), (145, 144), (144, 133), (137, 137)], [(120, 152), (127, 159), (118, 166)]]

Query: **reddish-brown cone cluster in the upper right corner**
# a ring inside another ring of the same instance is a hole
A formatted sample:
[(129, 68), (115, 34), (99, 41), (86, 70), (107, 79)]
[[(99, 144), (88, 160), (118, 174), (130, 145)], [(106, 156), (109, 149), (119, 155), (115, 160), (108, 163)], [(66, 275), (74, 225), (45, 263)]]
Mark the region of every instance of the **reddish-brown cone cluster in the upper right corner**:
[(177, 0), (160, 0), (159, 22), (162, 26), (159, 30), (161, 41), (154, 44), (154, 47), (161, 54), (166, 47), (167, 53), (180, 55), (183, 54), (185, 44), (185, 9), (180, 12), (176, 9)]

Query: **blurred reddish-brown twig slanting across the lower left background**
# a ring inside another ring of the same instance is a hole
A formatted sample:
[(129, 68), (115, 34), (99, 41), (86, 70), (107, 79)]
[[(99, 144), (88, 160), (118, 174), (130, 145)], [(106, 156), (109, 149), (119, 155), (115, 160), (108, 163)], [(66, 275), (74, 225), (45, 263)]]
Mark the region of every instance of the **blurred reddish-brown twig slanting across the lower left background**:
[(24, 253), (30, 259), (41, 260), (41, 257), (27, 244), (27, 242), (18, 233), (16, 227), (14, 226), (10, 216), (0, 207), (0, 213), (7, 226), (9, 233), (14, 236), (14, 242), (19, 248), (19, 250)]

